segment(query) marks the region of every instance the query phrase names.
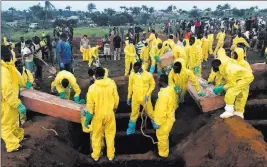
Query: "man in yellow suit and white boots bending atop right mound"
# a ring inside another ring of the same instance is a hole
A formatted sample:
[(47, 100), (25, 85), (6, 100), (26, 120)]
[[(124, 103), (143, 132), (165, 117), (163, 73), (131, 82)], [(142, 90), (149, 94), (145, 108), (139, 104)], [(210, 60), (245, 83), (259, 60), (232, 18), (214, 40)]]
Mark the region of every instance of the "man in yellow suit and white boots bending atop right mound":
[(225, 112), (220, 117), (229, 118), (236, 115), (244, 118), (249, 85), (254, 80), (252, 72), (235, 62), (222, 64), (219, 59), (213, 60), (211, 65), (214, 72), (219, 72), (226, 79), (224, 86), (220, 85), (213, 89), (215, 94), (226, 91), (224, 97)]

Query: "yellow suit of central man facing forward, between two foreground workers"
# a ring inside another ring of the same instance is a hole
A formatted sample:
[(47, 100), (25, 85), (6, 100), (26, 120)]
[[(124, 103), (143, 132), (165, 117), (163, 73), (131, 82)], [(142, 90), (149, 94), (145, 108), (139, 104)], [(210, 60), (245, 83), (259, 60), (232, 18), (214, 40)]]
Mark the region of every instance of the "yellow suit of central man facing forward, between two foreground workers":
[(129, 77), (128, 85), (128, 99), (132, 100), (132, 112), (130, 120), (136, 122), (140, 112), (140, 105), (145, 105), (145, 96), (149, 97), (149, 100), (145, 107), (145, 112), (148, 117), (153, 120), (153, 106), (151, 103), (151, 93), (155, 89), (155, 81), (147, 71), (143, 71), (141, 74), (131, 73)]

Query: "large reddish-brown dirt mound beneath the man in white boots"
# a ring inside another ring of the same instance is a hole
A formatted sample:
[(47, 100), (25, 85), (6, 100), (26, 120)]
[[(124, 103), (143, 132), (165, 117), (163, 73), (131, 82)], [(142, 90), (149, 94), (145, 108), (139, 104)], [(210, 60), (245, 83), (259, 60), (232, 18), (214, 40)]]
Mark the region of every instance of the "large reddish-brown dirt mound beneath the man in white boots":
[(187, 166), (266, 166), (267, 144), (250, 124), (215, 117), (175, 148)]

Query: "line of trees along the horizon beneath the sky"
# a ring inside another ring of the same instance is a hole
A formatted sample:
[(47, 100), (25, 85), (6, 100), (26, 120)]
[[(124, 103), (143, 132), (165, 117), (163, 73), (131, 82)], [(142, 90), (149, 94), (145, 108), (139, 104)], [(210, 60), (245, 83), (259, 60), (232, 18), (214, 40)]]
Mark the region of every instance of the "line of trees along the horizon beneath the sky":
[[(177, 2), (179, 3), (179, 2)], [(87, 11), (73, 11), (71, 6), (67, 5), (65, 9), (56, 9), (56, 7), (50, 1), (44, 1), (37, 5), (29, 7), (28, 10), (16, 10), (14, 7), (9, 8), (7, 11), (2, 11), (3, 21), (14, 20), (26, 20), (26, 22), (42, 22), (43, 25), (49, 19), (57, 19), (60, 17), (67, 18), (70, 16), (78, 16), (80, 20), (86, 20), (90, 18), (98, 26), (118, 26), (130, 24), (148, 24), (150, 22), (162, 23), (161, 19), (168, 18), (168, 16), (175, 16), (179, 19), (180, 16), (186, 15), (190, 17), (252, 17), (255, 15), (266, 15), (267, 9), (259, 10), (257, 6), (253, 6), (247, 9), (231, 8), (226, 3), (224, 5), (218, 5), (215, 10), (207, 8), (201, 10), (197, 6), (189, 11), (177, 9), (175, 5), (169, 5), (166, 9), (159, 10), (162, 14), (161, 17), (155, 16), (155, 9), (142, 5), (140, 7), (126, 7), (120, 6), (120, 11), (116, 11), (112, 8), (104, 9), (104, 11), (98, 11), (94, 3), (87, 5)], [(168, 16), (165, 16), (167, 14)], [(156, 19), (157, 18), (157, 19)], [(173, 17), (172, 17), (173, 18)], [(168, 18), (170, 19), (170, 18)], [(167, 20), (168, 20), (167, 19)]]

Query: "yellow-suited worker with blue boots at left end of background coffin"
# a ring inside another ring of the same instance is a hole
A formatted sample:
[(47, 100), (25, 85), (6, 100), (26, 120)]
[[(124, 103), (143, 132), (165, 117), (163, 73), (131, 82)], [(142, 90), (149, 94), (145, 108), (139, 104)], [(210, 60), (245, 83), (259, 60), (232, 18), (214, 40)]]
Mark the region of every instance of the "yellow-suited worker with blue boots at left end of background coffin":
[(165, 49), (162, 46), (162, 43), (159, 43), (158, 46), (154, 46), (149, 54), (151, 59), (150, 73), (154, 73), (157, 65), (158, 74), (162, 74), (162, 67), (160, 65), (160, 57), (164, 54)]

